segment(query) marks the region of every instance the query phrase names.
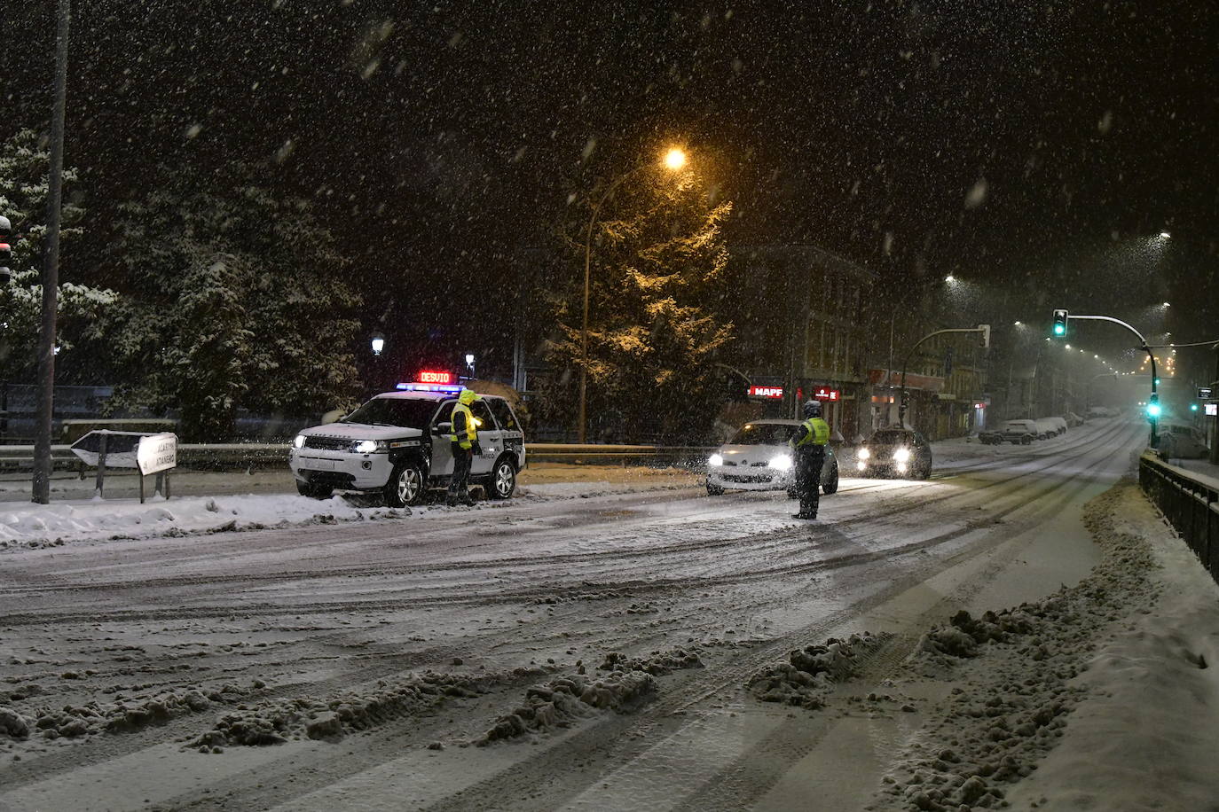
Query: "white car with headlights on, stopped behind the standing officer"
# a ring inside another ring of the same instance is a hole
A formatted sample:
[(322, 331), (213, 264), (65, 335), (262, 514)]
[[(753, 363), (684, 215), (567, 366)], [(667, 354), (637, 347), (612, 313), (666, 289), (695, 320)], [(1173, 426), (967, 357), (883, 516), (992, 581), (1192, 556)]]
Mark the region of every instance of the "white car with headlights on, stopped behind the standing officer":
[[(747, 422), (707, 460), (707, 493), (719, 495), (728, 488), (742, 491), (787, 491), (795, 497), (795, 471), (787, 441), (800, 429), (800, 420), (755, 420)], [(822, 492), (834, 493), (839, 465), (834, 449), (825, 447)]]

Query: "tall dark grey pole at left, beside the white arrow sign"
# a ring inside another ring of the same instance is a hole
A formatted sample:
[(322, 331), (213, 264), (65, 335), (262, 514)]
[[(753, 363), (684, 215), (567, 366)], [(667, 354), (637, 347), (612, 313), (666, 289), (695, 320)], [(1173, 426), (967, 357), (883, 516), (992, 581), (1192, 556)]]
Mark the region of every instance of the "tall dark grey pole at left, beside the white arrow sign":
[(51, 416), (55, 409), (55, 310), (60, 289), (60, 211), (63, 197), (63, 118), (68, 84), (68, 23), (72, 0), (60, 0), (55, 37), (55, 106), (51, 110), (51, 166), (46, 190), (46, 246), (43, 254), (43, 329), (38, 340), (38, 425), (34, 433), (32, 500), (51, 500)]

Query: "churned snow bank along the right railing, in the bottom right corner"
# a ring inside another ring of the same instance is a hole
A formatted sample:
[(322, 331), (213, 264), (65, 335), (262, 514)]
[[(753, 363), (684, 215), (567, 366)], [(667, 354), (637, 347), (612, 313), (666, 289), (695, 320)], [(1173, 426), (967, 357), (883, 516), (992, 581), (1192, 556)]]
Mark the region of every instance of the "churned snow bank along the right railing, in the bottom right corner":
[(1153, 550), (1169, 536), (1135, 486), (1084, 519), (1103, 554), (1087, 579), (920, 640), (911, 667), (954, 687), (870, 808), (1213, 803), (1219, 588), (1180, 542)]

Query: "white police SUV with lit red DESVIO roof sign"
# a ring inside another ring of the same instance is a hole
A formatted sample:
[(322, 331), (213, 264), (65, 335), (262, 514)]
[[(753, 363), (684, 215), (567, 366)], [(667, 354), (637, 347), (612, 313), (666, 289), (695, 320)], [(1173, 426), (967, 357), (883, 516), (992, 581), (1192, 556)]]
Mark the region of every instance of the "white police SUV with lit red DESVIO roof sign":
[[(453, 457), (446, 435), (460, 386), (399, 383), (338, 422), (296, 435), (288, 465), (301, 495), (325, 499), (335, 491), (384, 493), (385, 503), (417, 503), (428, 488), (449, 486)], [(490, 499), (507, 499), (525, 464), (524, 432), (508, 402), (483, 394), (471, 405), (483, 453), (471, 485)]]

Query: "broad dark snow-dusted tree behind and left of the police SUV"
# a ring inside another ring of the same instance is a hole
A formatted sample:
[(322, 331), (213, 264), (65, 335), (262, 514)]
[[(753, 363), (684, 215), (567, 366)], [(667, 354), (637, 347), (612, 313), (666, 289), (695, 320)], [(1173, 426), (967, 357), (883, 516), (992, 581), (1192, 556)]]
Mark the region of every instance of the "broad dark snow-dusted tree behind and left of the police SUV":
[(187, 438), (217, 439), (240, 407), (306, 415), (355, 396), (358, 299), (305, 201), (182, 178), (124, 203), (117, 225), (116, 404), (180, 409)]

